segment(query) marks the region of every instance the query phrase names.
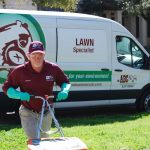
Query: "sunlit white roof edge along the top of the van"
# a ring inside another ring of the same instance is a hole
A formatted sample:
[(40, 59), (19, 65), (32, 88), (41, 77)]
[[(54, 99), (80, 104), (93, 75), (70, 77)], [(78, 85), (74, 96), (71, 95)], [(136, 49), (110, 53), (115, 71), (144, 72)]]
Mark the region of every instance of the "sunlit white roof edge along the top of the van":
[[(89, 21), (102, 21), (112, 23), (112, 29), (114, 31), (124, 30), (128, 32), (120, 23), (100, 16), (94, 16), (82, 13), (73, 12), (58, 12), (58, 11), (37, 11), (37, 10), (17, 10), (17, 9), (0, 9), (0, 13), (7, 14), (28, 14), (28, 15), (39, 15), (39, 16), (51, 16), (59, 19), (79, 19), (79, 20), (89, 20)], [(129, 32), (128, 32), (129, 33)]]

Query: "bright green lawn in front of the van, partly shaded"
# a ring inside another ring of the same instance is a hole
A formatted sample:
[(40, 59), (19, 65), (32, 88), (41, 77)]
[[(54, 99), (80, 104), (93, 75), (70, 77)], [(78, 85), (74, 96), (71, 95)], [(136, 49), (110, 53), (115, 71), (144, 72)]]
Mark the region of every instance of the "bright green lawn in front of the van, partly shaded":
[[(149, 150), (150, 115), (100, 114), (59, 119), (67, 137), (79, 137), (88, 150)], [(0, 125), (1, 150), (26, 150), (20, 125)]]

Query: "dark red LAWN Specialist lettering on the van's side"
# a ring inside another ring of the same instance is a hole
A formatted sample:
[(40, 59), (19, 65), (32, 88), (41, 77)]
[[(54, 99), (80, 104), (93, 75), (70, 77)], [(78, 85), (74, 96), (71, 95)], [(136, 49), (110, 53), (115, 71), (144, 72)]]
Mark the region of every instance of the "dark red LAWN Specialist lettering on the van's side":
[(75, 53), (94, 53), (94, 39), (76, 38)]

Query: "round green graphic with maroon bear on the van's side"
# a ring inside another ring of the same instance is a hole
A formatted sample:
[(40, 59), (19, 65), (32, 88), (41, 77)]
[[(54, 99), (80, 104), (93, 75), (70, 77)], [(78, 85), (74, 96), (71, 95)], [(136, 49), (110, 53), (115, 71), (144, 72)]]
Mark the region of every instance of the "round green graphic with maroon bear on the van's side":
[(27, 61), (31, 41), (45, 38), (39, 23), (30, 15), (0, 14), (0, 65), (17, 66)]

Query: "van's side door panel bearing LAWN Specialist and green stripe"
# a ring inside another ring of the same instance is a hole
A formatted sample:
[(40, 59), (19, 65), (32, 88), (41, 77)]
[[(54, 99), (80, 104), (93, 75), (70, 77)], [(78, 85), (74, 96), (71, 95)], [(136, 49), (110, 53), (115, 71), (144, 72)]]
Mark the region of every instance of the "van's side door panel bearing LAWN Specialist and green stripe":
[(57, 23), (57, 63), (72, 84), (70, 103), (63, 104), (65, 107), (109, 104), (110, 24), (77, 19), (58, 19)]

